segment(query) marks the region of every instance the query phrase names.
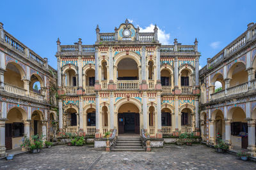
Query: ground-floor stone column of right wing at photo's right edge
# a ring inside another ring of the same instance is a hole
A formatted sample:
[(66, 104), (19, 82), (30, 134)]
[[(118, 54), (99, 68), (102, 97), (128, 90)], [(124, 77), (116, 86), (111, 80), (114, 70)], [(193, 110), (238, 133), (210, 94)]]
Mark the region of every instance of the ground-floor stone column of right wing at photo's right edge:
[(252, 155), (256, 155), (255, 147), (255, 120), (248, 120), (248, 150)]

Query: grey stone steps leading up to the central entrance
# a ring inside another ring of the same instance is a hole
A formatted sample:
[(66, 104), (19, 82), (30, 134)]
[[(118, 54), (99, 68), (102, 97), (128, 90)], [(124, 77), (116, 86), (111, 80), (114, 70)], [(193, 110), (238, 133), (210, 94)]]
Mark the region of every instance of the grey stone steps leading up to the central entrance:
[(118, 137), (115, 148), (111, 149), (114, 152), (142, 152), (145, 148), (142, 147), (140, 137)]

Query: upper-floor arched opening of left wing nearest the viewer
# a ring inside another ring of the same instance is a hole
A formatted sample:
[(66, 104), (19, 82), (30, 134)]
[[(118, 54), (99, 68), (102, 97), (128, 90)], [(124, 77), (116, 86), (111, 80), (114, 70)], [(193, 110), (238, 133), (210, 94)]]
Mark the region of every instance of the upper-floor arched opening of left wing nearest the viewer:
[(4, 71), (4, 83), (24, 89), (24, 79), (25, 74), (22, 67), (14, 62), (9, 62)]

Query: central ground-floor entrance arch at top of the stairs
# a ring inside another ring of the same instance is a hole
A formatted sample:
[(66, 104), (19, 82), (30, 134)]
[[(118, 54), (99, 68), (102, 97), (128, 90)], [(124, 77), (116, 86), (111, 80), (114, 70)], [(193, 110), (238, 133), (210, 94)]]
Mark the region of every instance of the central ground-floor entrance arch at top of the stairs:
[(140, 134), (139, 109), (132, 103), (125, 103), (118, 109), (118, 134)]

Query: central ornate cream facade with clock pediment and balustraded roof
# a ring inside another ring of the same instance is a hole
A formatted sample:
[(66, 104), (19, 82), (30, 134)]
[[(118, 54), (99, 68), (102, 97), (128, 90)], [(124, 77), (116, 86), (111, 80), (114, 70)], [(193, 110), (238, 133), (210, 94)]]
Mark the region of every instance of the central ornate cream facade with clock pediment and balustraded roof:
[(96, 28), (94, 45), (61, 45), (58, 51), (60, 132), (100, 138), (107, 131), (162, 138), (199, 130), (198, 42), (161, 45), (154, 32), (127, 20), (115, 32)]

